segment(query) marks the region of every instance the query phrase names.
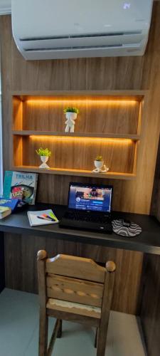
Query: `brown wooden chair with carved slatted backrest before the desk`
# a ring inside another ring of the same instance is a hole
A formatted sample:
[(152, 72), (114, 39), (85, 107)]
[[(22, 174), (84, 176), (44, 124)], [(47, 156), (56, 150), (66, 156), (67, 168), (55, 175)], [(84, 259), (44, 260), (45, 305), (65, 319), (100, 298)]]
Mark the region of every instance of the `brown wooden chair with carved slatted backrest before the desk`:
[[(107, 328), (114, 286), (115, 264), (106, 268), (89, 258), (58, 255), (47, 258), (38, 251), (38, 290), (40, 296), (39, 356), (50, 356), (56, 337), (62, 333), (62, 320), (97, 328), (97, 356), (105, 356)], [(48, 346), (48, 316), (56, 318)]]

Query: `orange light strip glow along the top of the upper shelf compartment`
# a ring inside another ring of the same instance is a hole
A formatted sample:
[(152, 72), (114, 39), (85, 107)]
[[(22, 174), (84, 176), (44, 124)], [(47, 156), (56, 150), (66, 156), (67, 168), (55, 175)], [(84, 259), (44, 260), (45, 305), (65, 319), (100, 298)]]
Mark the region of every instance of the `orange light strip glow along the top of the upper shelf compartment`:
[(25, 101), (28, 105), (70, 105), (71, 103), (79, 104), (79, 105), (136, 105), (139, 104), (137, 100), (120, 100), (120, 99), (28, 99)]

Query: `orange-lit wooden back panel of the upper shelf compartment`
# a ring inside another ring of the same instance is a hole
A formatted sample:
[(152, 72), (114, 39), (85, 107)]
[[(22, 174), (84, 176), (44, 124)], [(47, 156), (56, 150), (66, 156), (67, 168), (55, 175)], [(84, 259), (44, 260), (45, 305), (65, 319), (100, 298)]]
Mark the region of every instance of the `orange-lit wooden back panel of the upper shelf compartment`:
[[(80, 113), (75, 122), (75, 132), (118, 132), (137, 134), (139, 102), (102, 97), (93, 100), (64, 100), (47, 98), (45, 100), (26, 100), (23, 102), (23, 130), (59, 131), (65, 130), (63, 109), (72, 105)], [(17, 125), (15, 122), (15, 130)]]

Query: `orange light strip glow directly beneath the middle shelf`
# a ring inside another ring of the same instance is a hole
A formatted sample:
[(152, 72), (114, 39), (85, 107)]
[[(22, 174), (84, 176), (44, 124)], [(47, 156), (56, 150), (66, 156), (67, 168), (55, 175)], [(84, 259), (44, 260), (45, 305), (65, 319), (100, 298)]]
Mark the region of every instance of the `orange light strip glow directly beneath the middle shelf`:
[(87, 143), (106, 143), (106, 144), (125, 144), (125, 145), (132, 145), (133, 140), (130, 139), (124, 139), (124, 138), (106, 138), (106, 137), (77, 137), (77, 136), (73, 136), (73, 137), (65, 137), (65, 136), (43, 136), (43, 135), (31, 135), (29, 136), (29, 138), (31, 140), (53, 140), (53, 141), (67, 141), (67, 142), (74, 142), (76, 140), (76, 142), (80, 141), (83, 142), (85, 140), (85, 142)]

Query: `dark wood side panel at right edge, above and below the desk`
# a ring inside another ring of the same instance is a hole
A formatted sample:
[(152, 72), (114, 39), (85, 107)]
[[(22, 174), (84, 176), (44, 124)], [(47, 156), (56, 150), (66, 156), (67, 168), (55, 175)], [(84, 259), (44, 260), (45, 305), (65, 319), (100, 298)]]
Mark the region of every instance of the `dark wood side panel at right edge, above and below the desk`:
[[(160, 222), (160, 140), (156, 159), (151, 214)], [(160, 256), (144, 256), (140, 317), (149, 356), (160, 355)]]

